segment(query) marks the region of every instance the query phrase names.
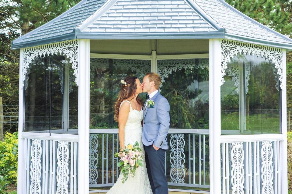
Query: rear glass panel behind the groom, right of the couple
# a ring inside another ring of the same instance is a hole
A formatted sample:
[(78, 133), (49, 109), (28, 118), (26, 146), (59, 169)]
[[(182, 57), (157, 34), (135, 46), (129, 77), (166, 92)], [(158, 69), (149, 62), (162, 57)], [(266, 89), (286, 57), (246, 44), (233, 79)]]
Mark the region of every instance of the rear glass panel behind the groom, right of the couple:
[(157, 68), (170, 128), (209, 129), (209, 59), (158, 60)]

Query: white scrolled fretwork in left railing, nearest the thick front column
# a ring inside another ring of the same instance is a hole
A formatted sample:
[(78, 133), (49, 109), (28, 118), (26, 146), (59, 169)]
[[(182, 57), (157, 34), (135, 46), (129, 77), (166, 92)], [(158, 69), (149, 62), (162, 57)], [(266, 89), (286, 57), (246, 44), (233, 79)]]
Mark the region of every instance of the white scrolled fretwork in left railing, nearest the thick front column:
[(68, 194), (69, 182), (69, 143), (58, 141), (57, 148), (57, 194)]

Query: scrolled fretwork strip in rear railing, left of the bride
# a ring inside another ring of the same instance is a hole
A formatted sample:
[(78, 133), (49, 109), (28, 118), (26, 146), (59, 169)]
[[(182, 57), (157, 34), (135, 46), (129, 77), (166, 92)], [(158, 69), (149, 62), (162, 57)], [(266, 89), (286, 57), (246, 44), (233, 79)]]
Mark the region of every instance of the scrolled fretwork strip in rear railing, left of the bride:
[(98, 183), (98, 134), (90, 134), (89, 184)]

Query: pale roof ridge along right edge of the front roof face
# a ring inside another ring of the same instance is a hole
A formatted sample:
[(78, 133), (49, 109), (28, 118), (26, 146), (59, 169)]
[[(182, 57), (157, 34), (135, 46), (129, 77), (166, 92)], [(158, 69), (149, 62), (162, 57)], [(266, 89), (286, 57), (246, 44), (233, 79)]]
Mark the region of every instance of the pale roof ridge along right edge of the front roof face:
[(213, 19), (209, 14), (207, 14), (195, 1), (191, 2), (192, 0), (185, 0), (195, 12), (197, 12), (206, 22), (210, 23), (218, 32), (224, 32), (225, 29), (219, 25), (215, 19)]

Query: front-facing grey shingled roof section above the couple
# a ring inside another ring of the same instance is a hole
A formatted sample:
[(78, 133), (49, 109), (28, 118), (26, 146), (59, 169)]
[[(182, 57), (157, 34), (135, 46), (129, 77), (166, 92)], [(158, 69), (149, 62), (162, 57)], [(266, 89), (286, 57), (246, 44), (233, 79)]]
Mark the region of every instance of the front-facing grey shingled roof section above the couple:
[(118, 0), (82, 32), (217, 32), (184, 0)]

